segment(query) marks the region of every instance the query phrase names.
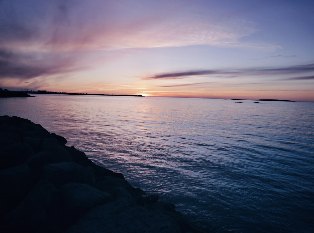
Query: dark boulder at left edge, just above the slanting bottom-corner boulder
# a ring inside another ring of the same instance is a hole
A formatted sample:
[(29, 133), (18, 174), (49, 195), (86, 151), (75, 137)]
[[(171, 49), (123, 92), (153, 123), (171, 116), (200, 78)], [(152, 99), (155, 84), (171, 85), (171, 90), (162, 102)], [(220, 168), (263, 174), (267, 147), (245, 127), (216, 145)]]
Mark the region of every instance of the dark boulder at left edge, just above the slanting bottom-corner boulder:
[(0, 170), (0, 198), (16, 206), (34, 187), (33, 176), (26, 164)]

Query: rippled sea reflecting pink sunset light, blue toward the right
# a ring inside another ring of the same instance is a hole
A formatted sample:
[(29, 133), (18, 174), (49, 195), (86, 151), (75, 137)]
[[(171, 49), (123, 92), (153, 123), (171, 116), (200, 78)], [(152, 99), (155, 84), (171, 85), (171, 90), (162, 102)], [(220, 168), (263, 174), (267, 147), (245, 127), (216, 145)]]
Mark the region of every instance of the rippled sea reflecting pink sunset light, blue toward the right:
[(213, 232), (314, 232), (314, 103), (1, 98)]

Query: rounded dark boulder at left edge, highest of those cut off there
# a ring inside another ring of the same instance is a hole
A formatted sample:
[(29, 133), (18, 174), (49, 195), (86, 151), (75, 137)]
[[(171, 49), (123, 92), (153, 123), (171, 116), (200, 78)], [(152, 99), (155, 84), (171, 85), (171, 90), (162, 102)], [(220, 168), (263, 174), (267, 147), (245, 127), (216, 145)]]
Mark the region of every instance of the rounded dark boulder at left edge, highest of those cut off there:
[(15, 167), (34, 154), (27, 143), (16, 142), (0, 150), (0, 169)]

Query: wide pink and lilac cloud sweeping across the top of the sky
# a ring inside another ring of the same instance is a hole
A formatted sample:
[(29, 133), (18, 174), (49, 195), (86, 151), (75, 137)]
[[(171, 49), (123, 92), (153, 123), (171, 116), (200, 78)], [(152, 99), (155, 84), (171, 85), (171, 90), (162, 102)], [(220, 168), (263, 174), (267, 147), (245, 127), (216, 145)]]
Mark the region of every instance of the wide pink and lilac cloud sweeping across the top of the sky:
[(182, 9), (185, 14), (180, 14), (167, 2), (160, 2), (155, 8), (128, 1), (123, 3), (126, 6), (96, 0), (88, 3), (30, 0), (23, 5), (17, 0), (4, 2), (0, 37), (6, 38), (10, 46), (18, 40), (24, 46), (41, 43), (42, 49), (85, 51), (204, 44), (263, 50), (279, 48), (240, 42), (240, 38), (258, 31), (251, 22), (190, 14), (187, 9)]

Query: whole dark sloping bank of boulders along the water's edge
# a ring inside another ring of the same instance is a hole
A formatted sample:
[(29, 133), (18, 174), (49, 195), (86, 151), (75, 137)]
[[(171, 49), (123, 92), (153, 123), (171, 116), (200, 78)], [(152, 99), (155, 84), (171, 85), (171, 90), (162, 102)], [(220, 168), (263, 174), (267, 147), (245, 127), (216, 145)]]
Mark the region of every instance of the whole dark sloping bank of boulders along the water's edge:
[(0, 117), (0, 232), (209, 232), (66, 143)]

